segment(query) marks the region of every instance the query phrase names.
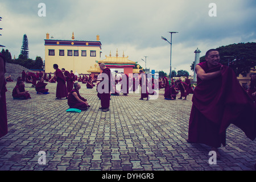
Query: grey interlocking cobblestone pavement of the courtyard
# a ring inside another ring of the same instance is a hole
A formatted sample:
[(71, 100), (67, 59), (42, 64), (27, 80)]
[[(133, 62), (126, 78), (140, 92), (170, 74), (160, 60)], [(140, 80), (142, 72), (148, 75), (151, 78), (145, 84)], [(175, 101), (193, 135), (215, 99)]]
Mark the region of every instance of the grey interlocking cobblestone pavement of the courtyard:
[[(81, 83), (81, 82), (80, 82)], [(217, 164), (209, 164), (210, 147), (186, 142), (192, 95), (187, 101), (141, 101), (139, 93), (112, 96), (110, 110), (102, 112), (96, 88), (81, 84), (81, 96), (91, 107), (67, 113), (67, 100), (38, 95), (26, 84), (32, 99), (13, 100), (15, 82), (6, 93), (9, 133), (0, 138), (0, 170), (138, 170), (138, 171), (253, 171), (255, 141), (230, 125), (226, 146)], [(39, 151), (46, 164), (39, 164)]]

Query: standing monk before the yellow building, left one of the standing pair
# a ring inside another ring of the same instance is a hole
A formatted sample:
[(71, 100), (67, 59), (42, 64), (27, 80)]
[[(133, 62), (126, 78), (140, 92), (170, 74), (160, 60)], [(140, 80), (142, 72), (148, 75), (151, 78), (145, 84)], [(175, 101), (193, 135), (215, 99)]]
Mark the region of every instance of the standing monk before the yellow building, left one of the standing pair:
[(53, 64), (53, 68), (56, 70), (54, 76), (49, 80), (51, 82), (52, 79), (56, 78), (57, 87), (56, 87), (56, 99), (68, 98), (68, 90), (66, 86), (66, 81), (63, 73), (59, 69), (57, 64)]

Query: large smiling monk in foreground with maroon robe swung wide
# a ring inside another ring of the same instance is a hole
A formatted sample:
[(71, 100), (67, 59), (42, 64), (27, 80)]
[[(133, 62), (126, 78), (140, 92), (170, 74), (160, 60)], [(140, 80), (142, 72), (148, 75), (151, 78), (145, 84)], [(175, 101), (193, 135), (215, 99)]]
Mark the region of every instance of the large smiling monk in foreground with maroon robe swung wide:
[(239, 84), (233, 70), (219, 63), (216, 49), (196, 65), (197, 86), (192, 98), (188, 142), (217, 148), (226, 144), (226, 129), (233, 123), (251, 140), (255, 139), (256, 118), (253, 101)]

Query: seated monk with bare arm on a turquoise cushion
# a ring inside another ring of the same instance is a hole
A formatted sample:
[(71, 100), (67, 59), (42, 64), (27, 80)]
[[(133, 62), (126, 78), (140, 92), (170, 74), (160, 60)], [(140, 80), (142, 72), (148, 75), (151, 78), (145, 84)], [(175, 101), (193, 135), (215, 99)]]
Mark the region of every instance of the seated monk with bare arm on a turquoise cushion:
[(90, 105), (87, 100), (80, 96), (79, 89), (81, 88), (80, 84), (76, 82), (74, 88), (68, 95), (68, 105), (69, 108), (75, 108), (80, 110), (87, 110)]

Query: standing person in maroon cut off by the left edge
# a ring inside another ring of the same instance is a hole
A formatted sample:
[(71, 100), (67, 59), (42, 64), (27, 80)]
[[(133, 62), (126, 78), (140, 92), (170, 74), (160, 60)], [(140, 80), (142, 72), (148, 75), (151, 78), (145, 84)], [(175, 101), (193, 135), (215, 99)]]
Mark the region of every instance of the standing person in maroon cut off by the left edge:
[(5, 56), (0, 53), (0, 138), (8, 133), (5, 72)]

